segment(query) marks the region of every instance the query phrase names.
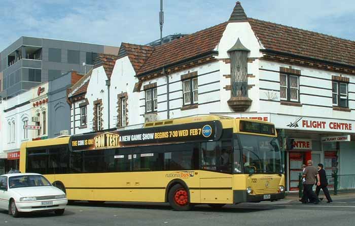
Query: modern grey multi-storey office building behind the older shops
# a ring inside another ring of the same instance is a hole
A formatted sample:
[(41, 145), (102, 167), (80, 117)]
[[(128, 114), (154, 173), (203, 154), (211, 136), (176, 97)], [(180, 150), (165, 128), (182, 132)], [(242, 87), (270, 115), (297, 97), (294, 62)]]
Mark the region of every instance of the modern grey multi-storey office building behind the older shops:
[(22, 36), (0, 53), (0, 97), (14, 97), (68, 71), (85, 73), (97, 54), (118, 47)]

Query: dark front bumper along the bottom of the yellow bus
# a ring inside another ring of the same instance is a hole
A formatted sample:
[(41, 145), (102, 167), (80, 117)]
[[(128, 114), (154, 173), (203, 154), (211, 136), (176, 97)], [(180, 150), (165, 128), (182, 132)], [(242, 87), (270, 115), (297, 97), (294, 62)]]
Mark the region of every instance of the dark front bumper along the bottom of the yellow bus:
[(270, 198), (266, 198), (264, 197), (264, 195), (248, 195), (246, 191), (240, 191), (240, 190), (233, 191), (234, 203), (273, 201), (273, 200), (284, 199), (284, 198), (285, 198), (285, 192), (270, 194)]

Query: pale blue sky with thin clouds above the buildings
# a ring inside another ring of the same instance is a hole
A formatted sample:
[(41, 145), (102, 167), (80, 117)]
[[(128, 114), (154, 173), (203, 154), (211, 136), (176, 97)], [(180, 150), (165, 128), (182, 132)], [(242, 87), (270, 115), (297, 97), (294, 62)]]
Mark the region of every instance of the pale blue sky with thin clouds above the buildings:
[[(235, 0), (163, 0), (163, 36), (227, 21)], [(240, 0), (248, 17), (355, 40), (353, 0)], [(0, 52), (20, 36), (120, 46), (160, 37), (160, 0), (0, 0)]]

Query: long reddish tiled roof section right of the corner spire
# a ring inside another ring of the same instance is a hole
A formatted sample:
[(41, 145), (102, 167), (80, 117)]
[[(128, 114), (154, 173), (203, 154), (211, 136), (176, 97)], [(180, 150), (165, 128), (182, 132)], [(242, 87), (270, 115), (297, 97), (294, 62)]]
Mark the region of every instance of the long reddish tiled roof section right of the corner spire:
[(265, 49), (355, 66), (355, 41), (248, 18)]

